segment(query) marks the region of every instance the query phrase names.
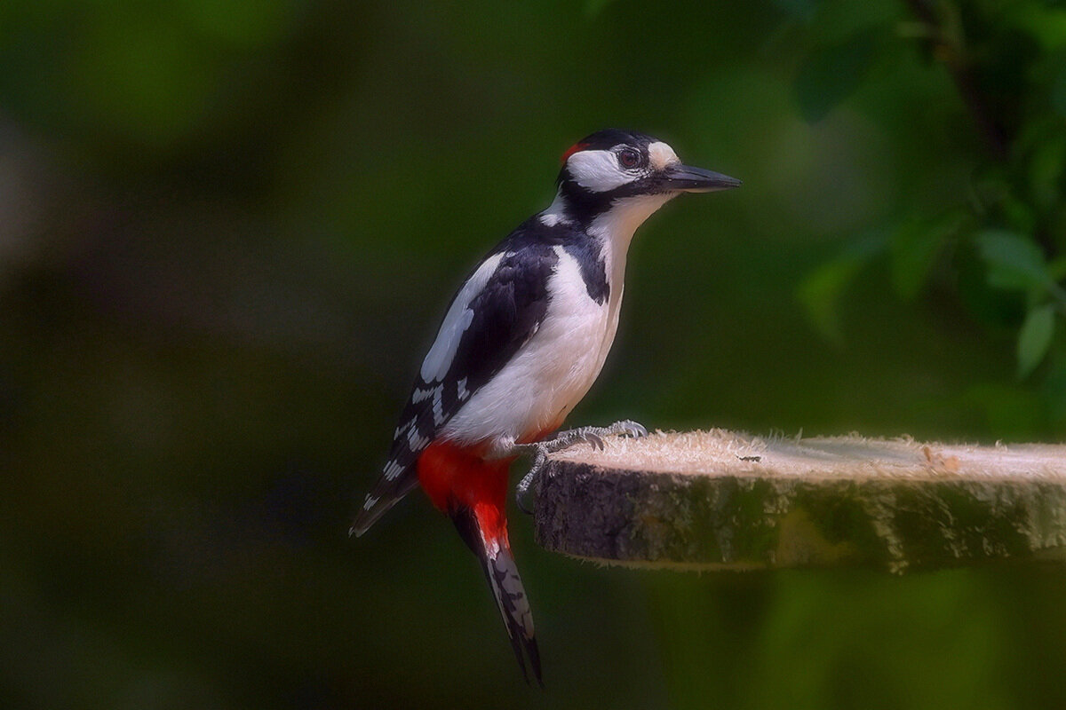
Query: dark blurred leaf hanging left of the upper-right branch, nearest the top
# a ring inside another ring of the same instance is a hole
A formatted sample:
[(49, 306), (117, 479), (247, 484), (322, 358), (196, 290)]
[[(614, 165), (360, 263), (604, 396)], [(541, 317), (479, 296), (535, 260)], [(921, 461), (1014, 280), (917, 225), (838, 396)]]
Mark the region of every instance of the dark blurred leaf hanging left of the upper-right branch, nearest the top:
[(869, 28), (810, 53), (795, 84), (800, 114), (805, 120), (821, 120), (855, 93), (877, 57), (882, 34), (881, 28)]

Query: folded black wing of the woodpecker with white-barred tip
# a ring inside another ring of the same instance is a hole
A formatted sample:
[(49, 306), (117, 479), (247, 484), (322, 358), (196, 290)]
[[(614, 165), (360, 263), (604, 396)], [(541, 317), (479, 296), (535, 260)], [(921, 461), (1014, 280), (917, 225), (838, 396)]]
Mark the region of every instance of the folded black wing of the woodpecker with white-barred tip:
[[(437, 340), (457, 336), (454, 353), (450, 363), (441, 363), (436, 373), (429, 375), (429, 380), (421, 371), (416, 379), (393, 432), (388, 462), (352, 525), (354, 534), (366, 532), (418, 484), (415, 463), (440, 427), (503, 368), (540, 326), (548, 310), (548, 280), (559, 257), (552, 248), (552, 243), (558, 242), (544, 238), (540, 232), (547, 228), (536, 229), (533, 221), (516, 230), (482, 262), (484, 265), (499, 258), (480, 291), (464, 293), (477, 278), (475, 269), (452, 299)], [(467, 309), (453, 313), (456, 300), (465, 297), (470, 298)], [(461, 326), (465, 326), (462, 334), (451, 330)]]

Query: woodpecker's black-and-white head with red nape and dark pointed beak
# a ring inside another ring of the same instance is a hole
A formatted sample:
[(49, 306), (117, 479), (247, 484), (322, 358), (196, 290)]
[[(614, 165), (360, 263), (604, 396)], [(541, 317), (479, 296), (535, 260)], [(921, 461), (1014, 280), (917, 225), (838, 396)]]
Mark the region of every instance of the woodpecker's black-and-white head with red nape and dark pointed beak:
[(615, 208), (650, 214), (681, 193), (712, 193), (740, 184), (736, 178), (683, 165), (662, 141), (618, 129), (597, 131), (576, 143), (563, 153), (559, 172), (559, 196), (567, 216), (586, 222)]

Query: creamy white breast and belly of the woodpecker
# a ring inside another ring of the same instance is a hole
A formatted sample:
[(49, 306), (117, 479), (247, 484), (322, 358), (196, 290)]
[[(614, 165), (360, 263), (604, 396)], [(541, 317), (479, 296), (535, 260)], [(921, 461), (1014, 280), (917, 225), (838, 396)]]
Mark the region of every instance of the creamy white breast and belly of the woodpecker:
[(602, 304), (588, 296), (577, 261), (555, 247), (550, 301), (539, 329), (441, 429), (463, 443), (520, 440), (555, 425), (592, 386), (618, 328), (620, 280)]

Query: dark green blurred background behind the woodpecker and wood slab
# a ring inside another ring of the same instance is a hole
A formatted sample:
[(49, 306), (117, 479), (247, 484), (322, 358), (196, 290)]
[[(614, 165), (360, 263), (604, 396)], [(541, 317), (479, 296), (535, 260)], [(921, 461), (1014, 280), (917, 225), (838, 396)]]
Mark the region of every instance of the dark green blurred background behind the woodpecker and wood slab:
[(602, 569), (512, 514), (547, 690), (413, 495), (448, 298), (601, 127), (637, 235), (571, 424), (1061, 441), (1066, 9), (0, 3), (0, 706), (1061, 708), (1066, 574)]

